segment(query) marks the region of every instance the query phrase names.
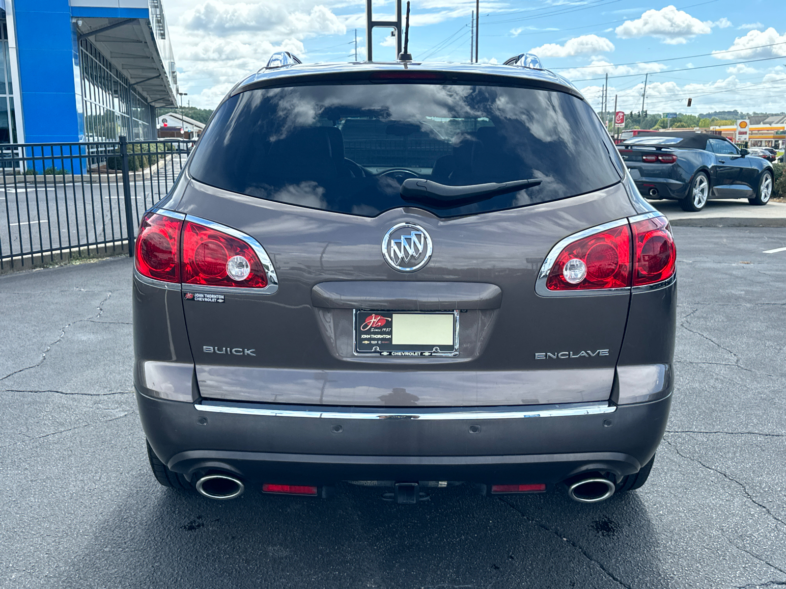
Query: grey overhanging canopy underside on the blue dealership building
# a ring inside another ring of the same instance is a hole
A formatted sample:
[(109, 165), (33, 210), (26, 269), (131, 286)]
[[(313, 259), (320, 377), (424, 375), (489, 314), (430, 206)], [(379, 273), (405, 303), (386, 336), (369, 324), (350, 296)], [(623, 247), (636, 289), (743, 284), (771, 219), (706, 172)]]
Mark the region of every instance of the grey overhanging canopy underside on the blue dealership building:
[[(148, 19), (81, 18), (79, 38), (87, 38), (123, 72), (150, 104), (174, 106), (177, 99), (168, 64), (161, 57)], [(175, 82), (176, 83), (176, 82)]]

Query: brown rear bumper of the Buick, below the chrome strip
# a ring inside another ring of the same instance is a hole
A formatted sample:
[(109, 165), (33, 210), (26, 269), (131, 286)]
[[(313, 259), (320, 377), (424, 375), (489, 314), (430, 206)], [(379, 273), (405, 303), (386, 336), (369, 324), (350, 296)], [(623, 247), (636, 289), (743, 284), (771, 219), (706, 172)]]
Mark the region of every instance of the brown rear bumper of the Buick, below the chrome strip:
[[(671, 397), (612, 405), (607, 412), (589, 415), (568, 411), (499, 419), (466, 414), (457, 419), (450, 415), (446, 419), (342, 419), (343, 412), (353, 411), (346, 408), (334, 408), (316, 419), (204, 412), (191, 403), (141, 393), (137, 402), (153, 451), (171, 470), (187, 477), (226, 470), (252, 484), (330, 485), (353, 480), (503, 484), (556, 483), (589, 471), (617, 477), (637, 472), (663, 437)], [(586, 404), (560, 408), (582, 406)], [(542, 412), (537, 407), (515, 408), (527, 409)], [(325, 412), (325, 407), (315, 407), (314, 412)]]

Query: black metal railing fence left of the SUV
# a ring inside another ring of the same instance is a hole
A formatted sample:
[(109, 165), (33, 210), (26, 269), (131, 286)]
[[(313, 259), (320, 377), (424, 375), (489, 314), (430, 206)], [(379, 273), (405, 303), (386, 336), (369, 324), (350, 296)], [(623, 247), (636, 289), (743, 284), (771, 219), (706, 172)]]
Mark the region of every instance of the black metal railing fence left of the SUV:
[(0, 145), (0, 271), (127, 251), (194, 143)]

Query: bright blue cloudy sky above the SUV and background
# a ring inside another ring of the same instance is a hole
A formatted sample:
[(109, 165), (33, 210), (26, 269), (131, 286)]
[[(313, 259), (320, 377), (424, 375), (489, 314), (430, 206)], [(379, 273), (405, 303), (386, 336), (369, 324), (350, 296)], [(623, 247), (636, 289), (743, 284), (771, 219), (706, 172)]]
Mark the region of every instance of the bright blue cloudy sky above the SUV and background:
[[(405, 2), (406, 5), (406, 2)], [(237, 79), (288, 49), (304, 61), (365, 58), (365, 0), (165, 0), (181, 90), (213, 108)], [(414, 0), (415, 60), (468, 61), (475, 0)], [(375, 0), (374, 18), (393, 18)], [(395, 55), (375, 29), (374, 58)], [(501, 63), (534, 50), (600, 108), (638, 111), (645, 73), (648, 112), (786, 111), (786, 5), (763, 0), (533, 0), (480, 2), (479, 57)], [(738, 63), (746, 62), (746, 63)], [(710, 67), (708, 67), (710, 66)], [(692, 97), (691, 108), (685, 106)]]

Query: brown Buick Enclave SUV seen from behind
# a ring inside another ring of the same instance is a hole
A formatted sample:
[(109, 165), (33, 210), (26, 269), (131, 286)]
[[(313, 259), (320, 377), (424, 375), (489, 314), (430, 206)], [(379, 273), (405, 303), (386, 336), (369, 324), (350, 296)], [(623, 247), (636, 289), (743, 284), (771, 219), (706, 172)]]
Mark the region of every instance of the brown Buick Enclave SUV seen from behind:
[(219, 104), (135, 246), (162, 485), (415, 503), (644, 484), (674, 240), (582, 94), (525, 57), (277, 55)]

